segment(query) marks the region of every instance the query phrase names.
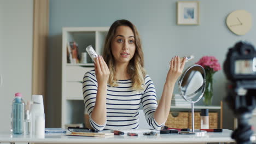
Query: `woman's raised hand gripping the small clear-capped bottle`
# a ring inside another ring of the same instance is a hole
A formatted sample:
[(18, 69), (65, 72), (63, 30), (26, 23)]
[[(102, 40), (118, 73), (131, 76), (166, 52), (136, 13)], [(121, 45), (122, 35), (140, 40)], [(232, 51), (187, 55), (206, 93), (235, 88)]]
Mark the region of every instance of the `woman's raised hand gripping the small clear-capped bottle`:
[(109, 69), (102, 56), (95, 58), (94, 68), (98, 85), (107, 84)]

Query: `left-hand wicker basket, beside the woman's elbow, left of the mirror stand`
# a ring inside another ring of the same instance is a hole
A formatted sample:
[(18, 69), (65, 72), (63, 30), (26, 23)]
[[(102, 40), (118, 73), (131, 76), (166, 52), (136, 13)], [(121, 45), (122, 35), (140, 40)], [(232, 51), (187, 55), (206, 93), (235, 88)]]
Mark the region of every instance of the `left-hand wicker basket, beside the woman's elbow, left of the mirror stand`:
[(170, 112), (165, 125), (169, 128), (188, 128), (188, 112)]

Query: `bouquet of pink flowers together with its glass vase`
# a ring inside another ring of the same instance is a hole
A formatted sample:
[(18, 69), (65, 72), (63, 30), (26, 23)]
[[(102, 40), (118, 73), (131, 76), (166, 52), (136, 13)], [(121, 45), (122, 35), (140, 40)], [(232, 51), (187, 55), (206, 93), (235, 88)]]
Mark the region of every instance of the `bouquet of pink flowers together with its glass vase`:
[(203, 94), (203, 103), (205, 105), (212, 104), (213, 96), (213, 74), (221, 69), (218, 59), (214, 56), (203, 56), (196, 64), (201, 65), (206, 72), (206, 88)]

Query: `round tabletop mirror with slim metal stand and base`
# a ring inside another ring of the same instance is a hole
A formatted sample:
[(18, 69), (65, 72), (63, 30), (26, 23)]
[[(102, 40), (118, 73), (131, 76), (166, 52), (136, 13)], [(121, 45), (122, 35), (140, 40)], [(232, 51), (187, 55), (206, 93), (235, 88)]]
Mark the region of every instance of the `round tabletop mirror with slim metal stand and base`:
[(192, 65), (187, 68), (178, 81), (179, 94), (184, 100), (191, 103), (192, 130), (179, 131), (180, 134), (204, 135), (206, 131), (194, 129), (194, 103), (199, 101), (205, 92), (205, 69), (201, 65)]

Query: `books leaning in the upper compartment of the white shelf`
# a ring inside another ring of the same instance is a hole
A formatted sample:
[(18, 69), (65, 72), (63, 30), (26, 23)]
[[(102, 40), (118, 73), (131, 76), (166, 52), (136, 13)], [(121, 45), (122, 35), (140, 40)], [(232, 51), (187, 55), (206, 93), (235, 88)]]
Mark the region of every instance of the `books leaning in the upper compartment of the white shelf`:
[(67, 63), (79, 63), (78, 44), (75, 41), (67, 43)]

